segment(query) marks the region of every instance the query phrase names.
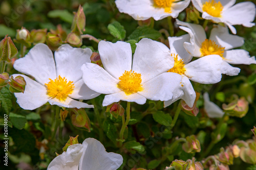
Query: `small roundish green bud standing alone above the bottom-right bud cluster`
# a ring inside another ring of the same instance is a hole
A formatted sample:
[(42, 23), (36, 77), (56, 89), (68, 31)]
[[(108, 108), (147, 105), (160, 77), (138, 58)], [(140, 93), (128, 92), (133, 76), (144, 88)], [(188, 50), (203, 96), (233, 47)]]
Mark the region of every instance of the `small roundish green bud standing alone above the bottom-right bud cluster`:
[(187, 153), (201, 152), (201, 146), (195, 135), (187, 136), (186, 142), (182, 144), (182, 149)]

